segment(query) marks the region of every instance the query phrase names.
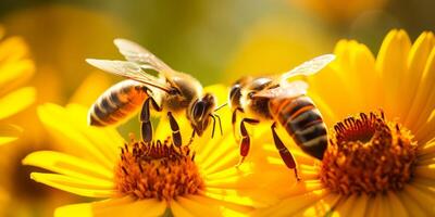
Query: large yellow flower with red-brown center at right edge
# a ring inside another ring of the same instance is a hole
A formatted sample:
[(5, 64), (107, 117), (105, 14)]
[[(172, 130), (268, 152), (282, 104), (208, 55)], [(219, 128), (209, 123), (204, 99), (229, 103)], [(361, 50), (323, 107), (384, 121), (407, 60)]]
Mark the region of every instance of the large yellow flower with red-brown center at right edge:
[(308, 78), (331, 128), (323, 161), (293, 146), (302, 177), (296, 182), (266, 145), (282, 201), (256, 215), (434, 216), (433, 33), (411, 44), (406, 31), (391, 30), (376, 59), (348, 40), (335, 54), (330, 67)]

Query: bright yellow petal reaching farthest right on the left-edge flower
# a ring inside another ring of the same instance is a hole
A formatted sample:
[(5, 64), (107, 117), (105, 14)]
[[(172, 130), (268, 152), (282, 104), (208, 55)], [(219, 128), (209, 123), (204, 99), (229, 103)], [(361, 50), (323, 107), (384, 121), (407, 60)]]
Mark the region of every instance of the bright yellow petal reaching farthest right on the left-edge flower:
[(35, 88), (26, 87), (0, 98), (0, 119), (23, 111), (35, 102)]

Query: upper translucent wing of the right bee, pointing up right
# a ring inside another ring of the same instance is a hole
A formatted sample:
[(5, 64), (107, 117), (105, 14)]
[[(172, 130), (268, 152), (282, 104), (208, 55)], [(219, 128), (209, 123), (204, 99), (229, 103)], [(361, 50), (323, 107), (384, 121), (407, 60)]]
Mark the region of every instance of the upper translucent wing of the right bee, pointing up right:
[(290, 72), (284, 73), (281, 76), (281, 85), (287, 82), (287, 79), (297, 75), (312, 75), (324, 68), (327, 64), (335, 60), (334, 54), (325, 54), (307, 61), (299, 66), (296, 66)]

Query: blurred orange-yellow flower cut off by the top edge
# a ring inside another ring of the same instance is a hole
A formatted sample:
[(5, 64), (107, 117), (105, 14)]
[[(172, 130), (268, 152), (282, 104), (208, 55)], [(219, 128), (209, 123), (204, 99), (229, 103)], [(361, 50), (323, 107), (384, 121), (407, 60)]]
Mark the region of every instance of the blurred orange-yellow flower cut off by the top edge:
[(335, 23), (349, 22), (365, 11), (382, 9), (388, 0), (289, 0), (322, 18)]

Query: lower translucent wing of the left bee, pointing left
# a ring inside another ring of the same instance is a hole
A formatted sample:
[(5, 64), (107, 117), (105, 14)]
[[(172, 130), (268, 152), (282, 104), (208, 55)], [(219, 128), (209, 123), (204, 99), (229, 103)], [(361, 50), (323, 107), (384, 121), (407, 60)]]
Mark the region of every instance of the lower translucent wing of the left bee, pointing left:
[(167, 85), (162, 84), (157, 77), (149, 75), (144, 71), (147, 68), (156, 69), (150, 65), (139, 65), (137, 63), (127, 61), (109, 61), (96, 59), (86, 59), (86, 62), (104, 72), (144, 82), (148, 86), (161, 89), (166, 92), (170, 90), (170, 87), (167, 87)]

